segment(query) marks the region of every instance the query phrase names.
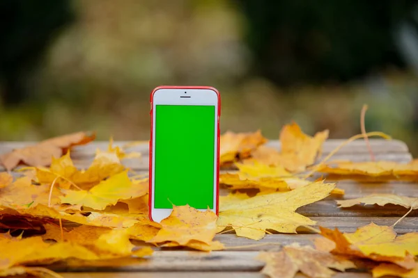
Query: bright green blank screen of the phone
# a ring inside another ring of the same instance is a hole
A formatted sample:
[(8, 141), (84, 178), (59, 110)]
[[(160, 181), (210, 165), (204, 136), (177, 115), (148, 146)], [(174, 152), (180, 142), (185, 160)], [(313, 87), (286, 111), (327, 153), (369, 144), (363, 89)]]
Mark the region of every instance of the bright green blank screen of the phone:
[(155, 107), (155, 208), (213, 208), (215, 106)]

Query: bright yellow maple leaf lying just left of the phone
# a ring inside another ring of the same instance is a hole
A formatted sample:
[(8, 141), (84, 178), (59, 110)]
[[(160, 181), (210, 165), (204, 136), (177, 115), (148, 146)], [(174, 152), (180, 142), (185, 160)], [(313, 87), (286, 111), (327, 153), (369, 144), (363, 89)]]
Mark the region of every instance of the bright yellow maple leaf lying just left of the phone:
[(90, 190), (63, 190), (65, 197), (61, 202), (79, 204), (93, 209), (102, 210), (110, 204), (116, 204), (119, 199), (132, 199), (148, 193), (148, 186), (138, 186), (132, 183), (127, 171), (115, 174), (101, 181)]

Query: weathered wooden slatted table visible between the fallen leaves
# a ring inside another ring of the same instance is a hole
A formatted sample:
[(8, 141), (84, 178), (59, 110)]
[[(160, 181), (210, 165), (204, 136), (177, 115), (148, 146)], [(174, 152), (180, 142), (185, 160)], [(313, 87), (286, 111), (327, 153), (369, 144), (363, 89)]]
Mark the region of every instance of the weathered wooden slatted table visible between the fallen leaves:
[[(343, 140), (328, 140), (323, 147), (323, 156), (329, 154)], [(30, 142), (2, 142), (0, 154), (8, 150), (28, 145)], [(124, 145), (127, 142), (116, 142), (115, 145)], [(95, 149), (107, 149), (108, 142), (95, 142), (90, 145), (77, 147), (72, 151), (75, 165), (80, 168), (88, 167), (93, 161)], [(279, 142), (270, 141), (268, 145), (279, 148)], [(377, 160), (408, 162), (411, 155), (408, 147), (398, 140), (371, 140), (371, 147)], [(148, 144), (136, 145), (127, 149), (128, 152), (141, 152), (140, 159), (125, 161), (125, 165), (139, 174), (148, 172)], [(334, 160), (369, 161), (369, 152), (364, 141), (358, 140), (343, 147)], [(175, 161), (173, 161), (174, 163)], [(3, 170), (0, 168), (0, 171)], [(330, 181), (330, 180), (328, 180)], [(338, 182), (338, 188), (346, 190), (343, 199), (351, 199), (369, 195), (371, 193), (394, 193), (409, 197), (418, 197), (417, 183), (392, 181), (388, 183), (359, 183), (345, 180)], [(354, 206), (353, 208), (337, 208), (335, 199), (327, 197), (322, 201), (303, 206), (297, 209), (298, 213), (318, 222), (318, 226), (338, 227), (341, 231), (353, 232), (357, 227), (370, 222), (376, 224), (392, 225), (408, 209), (401, 206)], [(340, 197), (341, 199), (341, 197)], [(316, 227), (318, 227), (316, 226)], [(398, 234), (418, 231), (418, 211), (412, 211), (399, 224), (395, 230)], [(247, 238), (238, 238), (235, 234), (220, 234), (215, 237), (226, 247), (251, 245), (254, 243), (274, 243), (260, 247), (247, 247), (239, 250), (226, 250), (219, 252), (194, 252), (190, 250), (157, 250), (150, 259), (141, 261), (127, 259), (123, 266), (106, 265), (55, 265), (54, 270), (61, 272), (63, 277), (127, 277), (127, 278), (169, 278), (169, 277), (217, 277), (217, 278), (254, 278), (264, 277), (259, 272), (263, 263), (254, 259), (262, 250), (279, 249), (281, 245), (300, 243), (312, 245), (314, 238), (320, 235), (312, 234), (307, 229), (298, 229), (299, 234), (271, 234), (262, 240), (254, 241)], [(358, 271), (358, 270), (357, 270)], [(298, 277), (304, 277), (298, 275)], [(368, 273), (346, 272), (335, 277), (371, 277)]]

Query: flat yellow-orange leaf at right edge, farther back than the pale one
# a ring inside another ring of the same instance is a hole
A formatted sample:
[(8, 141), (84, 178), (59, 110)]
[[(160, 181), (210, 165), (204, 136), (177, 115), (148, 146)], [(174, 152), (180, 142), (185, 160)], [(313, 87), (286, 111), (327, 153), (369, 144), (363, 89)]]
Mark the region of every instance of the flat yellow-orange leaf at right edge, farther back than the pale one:
[(418, 161), (335, 161), (318, 168), (318, 172), (355, 179), (387, 181), (391, 179), (414, 181), (418, 179)]

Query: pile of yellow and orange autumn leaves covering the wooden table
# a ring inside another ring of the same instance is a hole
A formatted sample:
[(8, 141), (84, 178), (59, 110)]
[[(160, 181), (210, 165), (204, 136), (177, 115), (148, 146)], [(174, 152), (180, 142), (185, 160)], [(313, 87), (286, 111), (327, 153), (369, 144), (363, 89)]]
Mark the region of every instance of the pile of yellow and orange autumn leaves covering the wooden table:
[[(416, 161), (328, 163), (338, 149), (318, 161), (327, 136), (328, 131), (308, 136), (297, 124), (288, 124), (281, 129), (278, 151), (265, 144), (268, 140), (260, 131), (225, 133), (219, 182), (227, 194), (219, 199), (219, 216), (174, 206), (161, 223), (148, 218), (148, 177), (121, 163), (140, 154), (114, 147), (112, 141), (108, 149), (96, 151), (84, 170), (75, 167), (70, 155), (72, 147), (94, 140), (84, 132), (3, 154), (0, 162), (8, 172), (0, 173), (0, 276), (56, 276), (45, 267), (74, 260), (148, 258), (160, 247), (224, 250), (228, 247), (214, 240), (217, 233), (234, 231), (236, 236), (260, 240), (265, 234), (296, 233), (302, 227), (323, 235), (316, 248), (293, 244), (279, 252), (263, 252), (259, 256), (266, 263), (263, 273), (293, 277), (300, 271), (309, 277), (331, 277), (334, 270), (364, 268), (367, 263), (375, 277), (417, 277), (418, 233), (396, 237), (393, 227), (373, 223), (353, 234), (317, 230), (314, 220), (296, 213), (331, 194), (344, 194), (321, 173), (341, 179), (418, 177)], [(363, 137), (365, 133), (347, 142)], [(339, 201), (341, 207), (355, 204), (418, 208), (417, 198), (396, 195)]]

